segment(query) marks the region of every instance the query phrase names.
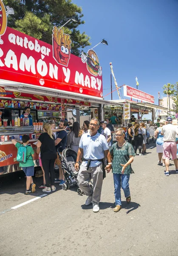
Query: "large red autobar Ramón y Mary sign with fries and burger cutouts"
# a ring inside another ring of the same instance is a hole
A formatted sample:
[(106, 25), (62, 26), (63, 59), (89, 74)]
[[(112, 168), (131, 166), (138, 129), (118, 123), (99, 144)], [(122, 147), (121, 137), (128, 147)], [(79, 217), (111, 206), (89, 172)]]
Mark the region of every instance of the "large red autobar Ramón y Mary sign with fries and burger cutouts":
[(0, 79), (102, 97), (96, 52), (71, 54), (70, 36), (56, 27), (51, 41), (53, 46), (7, 27), (0, 41)]

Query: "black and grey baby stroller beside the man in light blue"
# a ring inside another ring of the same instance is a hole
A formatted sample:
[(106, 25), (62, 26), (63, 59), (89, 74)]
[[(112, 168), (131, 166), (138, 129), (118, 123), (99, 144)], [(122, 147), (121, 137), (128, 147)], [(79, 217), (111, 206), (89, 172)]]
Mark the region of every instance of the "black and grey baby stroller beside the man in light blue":
[[(62, 184), (62, 189), (70, 189), (71, 186), (78, 186), (77, 175), (75, 169), (76, 157), (77, 154), (70, 148), (64, 149), (62, 151), (62, 169), (64, 170), (65, 183)], [(90, 184), (90, 187), (93, 188), (93, 184)], [(82, 189), (77, 189), (78, 195), (83, 195)]]

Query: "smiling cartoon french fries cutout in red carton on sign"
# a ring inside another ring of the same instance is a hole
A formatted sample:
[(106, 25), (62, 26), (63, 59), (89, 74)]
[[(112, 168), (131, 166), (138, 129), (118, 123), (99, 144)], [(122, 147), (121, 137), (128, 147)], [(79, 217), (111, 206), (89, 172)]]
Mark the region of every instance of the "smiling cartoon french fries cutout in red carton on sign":
[(70, 35), (65, 34), (63, 29), (58, 29), (54, 26), (53, 29), (53, 57), (59, 64), (68, 66), (68, 61), (71, 55)]

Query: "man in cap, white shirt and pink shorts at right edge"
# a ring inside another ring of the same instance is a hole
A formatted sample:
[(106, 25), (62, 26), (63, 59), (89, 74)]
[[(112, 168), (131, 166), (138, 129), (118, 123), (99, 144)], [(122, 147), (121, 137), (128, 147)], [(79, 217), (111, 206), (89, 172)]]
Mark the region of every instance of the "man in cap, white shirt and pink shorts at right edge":
[(178, 134), (177, 125), (172, 125), (172, 118), (167, 117), (167, 125), (164, 125), (161, 130), (163, 137), (163, 158), (165, 159), (166, 172), (165, 175), (169, 176), (170, 154), (175, 164), (175, 172), (178, 173), (178, 160), (177, 160), (177, 144), (175, 136)]

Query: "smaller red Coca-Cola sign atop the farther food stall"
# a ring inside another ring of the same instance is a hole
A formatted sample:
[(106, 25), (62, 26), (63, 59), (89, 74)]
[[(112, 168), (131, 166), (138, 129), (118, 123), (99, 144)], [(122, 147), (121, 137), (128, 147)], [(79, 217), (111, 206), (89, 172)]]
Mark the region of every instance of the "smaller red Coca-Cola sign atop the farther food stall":
[(124, 85), (124, 96), (130, 97), (133, 99), (138, 99), (144, 102), (153, 103), (155, 102), (154, 96), (144, 93), (141, 90), (137, 90), (133, 87), (130, 87), (128, 85)]

